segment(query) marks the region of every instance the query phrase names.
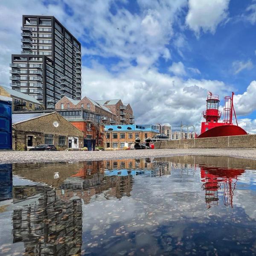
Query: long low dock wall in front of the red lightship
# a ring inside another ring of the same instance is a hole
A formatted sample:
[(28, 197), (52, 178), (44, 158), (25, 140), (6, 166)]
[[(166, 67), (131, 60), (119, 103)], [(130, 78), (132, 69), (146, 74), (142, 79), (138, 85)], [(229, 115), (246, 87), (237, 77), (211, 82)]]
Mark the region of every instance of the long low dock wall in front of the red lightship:
[(154, 143), (160, 148), (256, 148), (256, 134), (211, 137), (188, 140), (166, 140)]

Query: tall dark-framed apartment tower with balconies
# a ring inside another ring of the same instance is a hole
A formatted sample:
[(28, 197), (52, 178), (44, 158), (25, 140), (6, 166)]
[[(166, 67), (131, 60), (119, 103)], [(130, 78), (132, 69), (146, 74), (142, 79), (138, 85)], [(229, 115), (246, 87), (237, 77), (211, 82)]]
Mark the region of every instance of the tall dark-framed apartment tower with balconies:
[(81, 44), (53, 16), (23, 15), (21, 54), (12, 54), (11, 86), (54, 108), (81, 99)]

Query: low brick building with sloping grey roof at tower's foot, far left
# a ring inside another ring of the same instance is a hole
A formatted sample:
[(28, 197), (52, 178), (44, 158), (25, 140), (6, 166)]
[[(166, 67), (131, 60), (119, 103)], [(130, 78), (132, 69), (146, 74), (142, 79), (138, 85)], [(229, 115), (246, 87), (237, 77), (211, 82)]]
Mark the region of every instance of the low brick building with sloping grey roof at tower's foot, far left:
[(44, 109), (44, 105), (34, 97), (7, 87), (0, 86), (0, 96), (12, 98), (12, 111), (34, 111)]

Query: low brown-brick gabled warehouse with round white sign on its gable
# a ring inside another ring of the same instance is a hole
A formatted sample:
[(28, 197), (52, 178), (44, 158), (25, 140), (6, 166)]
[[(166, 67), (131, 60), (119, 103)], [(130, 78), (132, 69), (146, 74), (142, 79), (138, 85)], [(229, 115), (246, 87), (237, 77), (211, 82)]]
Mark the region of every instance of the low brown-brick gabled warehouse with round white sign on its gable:
[(39, 144), (84, 147), (84, 134), (56, 112), (13, 114), (12, 137), (15, 150)]

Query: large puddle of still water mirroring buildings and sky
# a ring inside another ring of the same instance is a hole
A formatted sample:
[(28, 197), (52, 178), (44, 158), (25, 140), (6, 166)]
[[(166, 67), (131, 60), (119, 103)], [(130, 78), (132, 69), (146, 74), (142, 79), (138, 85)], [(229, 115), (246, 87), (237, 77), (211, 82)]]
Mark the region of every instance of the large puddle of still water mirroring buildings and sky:
[(256, 255), (256, 160), (0, 165), (0, 255)]

